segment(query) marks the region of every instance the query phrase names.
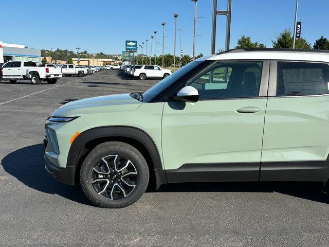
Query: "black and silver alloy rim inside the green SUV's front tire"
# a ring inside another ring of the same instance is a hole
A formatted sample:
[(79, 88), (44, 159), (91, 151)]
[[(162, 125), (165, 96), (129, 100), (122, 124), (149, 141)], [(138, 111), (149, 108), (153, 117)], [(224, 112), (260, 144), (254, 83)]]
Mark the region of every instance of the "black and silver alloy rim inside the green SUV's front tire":
[(90, 181), (98, 195), (118, 200), (127, 197), (135, 189), (137, 170), (128, 158), (108, 155), (94, 165)]

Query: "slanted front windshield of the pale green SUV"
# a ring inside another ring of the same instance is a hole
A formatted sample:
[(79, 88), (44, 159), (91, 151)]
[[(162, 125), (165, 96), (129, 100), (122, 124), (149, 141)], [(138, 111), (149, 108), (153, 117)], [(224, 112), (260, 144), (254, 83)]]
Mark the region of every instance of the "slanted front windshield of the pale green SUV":
[(184, 67), (178, 69), (175, 73), (171, 74), (170, 76), (166, 77), (165, 79), (159, 81), (157, 84), (151, 87), (148, 91), (143, 93), (143, 101), (149, 102), (171, 84), (173, 84), (177, 79), (184, 76), (188, 73), (191, 69), (202, 63), (203, 61), (193, 61), (189, 64), (185, 65)]

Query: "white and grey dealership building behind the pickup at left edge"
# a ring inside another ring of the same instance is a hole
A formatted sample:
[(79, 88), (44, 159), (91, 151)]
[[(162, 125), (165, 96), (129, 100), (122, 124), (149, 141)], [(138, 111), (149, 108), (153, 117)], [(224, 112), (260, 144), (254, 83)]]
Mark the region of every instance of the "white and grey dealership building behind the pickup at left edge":
[(25, 45), (8, 44), (0, 41), (0, 63), (6, 63), (12, 60), (41, 63), (41, 50), (26, 48)]

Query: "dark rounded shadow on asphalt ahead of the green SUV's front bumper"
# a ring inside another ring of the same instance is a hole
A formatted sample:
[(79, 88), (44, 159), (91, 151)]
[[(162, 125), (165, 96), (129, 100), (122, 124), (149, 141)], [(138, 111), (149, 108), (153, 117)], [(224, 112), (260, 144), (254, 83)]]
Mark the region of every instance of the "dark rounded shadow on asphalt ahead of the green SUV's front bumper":
[(24, 147), (9, 153), (1, 164), (6, 172), (32, 189), (95, 206), (84, 196), (80, 185), (62, 184), (46, 171), (43, 162), (43, 144)]

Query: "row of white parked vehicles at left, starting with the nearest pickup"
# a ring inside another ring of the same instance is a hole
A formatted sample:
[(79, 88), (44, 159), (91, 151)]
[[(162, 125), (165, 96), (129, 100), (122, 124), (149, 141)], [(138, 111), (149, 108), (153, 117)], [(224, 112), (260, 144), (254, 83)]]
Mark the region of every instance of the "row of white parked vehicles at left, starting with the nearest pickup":
[(46, 81), (54, 84), (62, 76), (87, 76), (104, 70), (103, 66), (82, 66), (75, 64), (41, 64), (31, 61), (9, 61), (0, 67), (0, 82), (9, 80), (16, 83), (17, 80), (30, 80), (31, 84), (41, 84)]

